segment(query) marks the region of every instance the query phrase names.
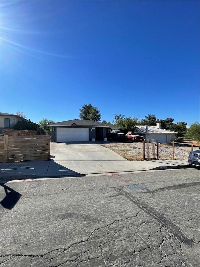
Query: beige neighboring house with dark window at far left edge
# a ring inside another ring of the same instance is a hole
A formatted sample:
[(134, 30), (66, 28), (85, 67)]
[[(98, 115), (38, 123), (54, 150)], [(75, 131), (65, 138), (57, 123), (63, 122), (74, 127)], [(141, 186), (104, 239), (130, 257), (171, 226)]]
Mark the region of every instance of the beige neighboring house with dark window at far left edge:
[(13, 129), (14, 125), (17, 124), (17, 121), (22, 121), (22, 119), (22, 117), (15, 114), (0, 112), (0, 134), (3, 133), (4, 129)]

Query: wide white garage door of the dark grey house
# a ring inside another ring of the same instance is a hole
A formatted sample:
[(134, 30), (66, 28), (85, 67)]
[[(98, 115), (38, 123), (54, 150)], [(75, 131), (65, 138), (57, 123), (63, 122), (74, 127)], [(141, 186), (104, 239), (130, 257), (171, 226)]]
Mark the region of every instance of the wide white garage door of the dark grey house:
[(89, 141), (89, 129), (57, 127), (56, 136), (57, 142)]

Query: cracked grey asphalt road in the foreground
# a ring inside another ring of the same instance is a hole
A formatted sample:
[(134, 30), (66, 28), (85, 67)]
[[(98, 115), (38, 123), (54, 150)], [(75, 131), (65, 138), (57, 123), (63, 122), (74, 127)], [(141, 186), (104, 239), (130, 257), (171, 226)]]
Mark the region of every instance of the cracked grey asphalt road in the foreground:
[(199, 266), (199, 170), (0, 186), (0, 266)]

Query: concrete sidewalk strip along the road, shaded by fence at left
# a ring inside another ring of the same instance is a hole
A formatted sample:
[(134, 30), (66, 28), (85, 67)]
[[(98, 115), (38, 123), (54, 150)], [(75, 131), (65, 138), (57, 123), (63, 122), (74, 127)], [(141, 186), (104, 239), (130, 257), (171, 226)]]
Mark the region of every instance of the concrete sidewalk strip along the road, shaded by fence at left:
[[(64, 167), (63, 165), (67, 166)], [(87, 174), (134, 172), (188, 168), (187, 160), (153, 160), (153, 161), (68, 161), (66, 164), (50, 161), (32, 161), (17, 163), (0, 163), (0, 183), (10, 180), (74, 177)]]

